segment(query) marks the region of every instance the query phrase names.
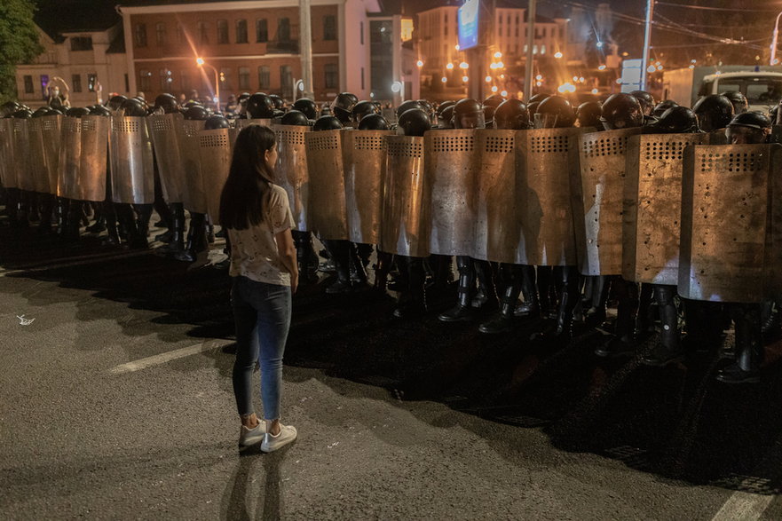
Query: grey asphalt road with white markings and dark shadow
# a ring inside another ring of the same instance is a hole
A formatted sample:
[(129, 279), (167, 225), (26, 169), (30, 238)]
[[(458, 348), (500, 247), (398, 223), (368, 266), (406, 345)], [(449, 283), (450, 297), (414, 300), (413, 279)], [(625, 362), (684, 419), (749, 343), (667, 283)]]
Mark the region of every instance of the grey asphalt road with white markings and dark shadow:
[(240, 454), (227, 288), (0, 226), (0, 517), (782, 518), (778, 343), (762, 384), (727, 386), (713, 356), (602, 361), (596, 332), (399, 322), (321, 282), (286, 352), (299, 439)]

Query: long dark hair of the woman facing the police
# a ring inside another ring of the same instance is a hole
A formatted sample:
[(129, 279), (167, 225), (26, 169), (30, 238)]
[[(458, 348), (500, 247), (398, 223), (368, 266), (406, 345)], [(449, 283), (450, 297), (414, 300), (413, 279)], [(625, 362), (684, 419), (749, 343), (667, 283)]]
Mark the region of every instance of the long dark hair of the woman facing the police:
[(233, 146), (231, 170), (220, 194), (220, 225), (244, 230), (264, 220), (265, 200), (274, 181), (274, 165), (265, 153), (276, 145), (274, 132), (264, 125), (249, 125)]

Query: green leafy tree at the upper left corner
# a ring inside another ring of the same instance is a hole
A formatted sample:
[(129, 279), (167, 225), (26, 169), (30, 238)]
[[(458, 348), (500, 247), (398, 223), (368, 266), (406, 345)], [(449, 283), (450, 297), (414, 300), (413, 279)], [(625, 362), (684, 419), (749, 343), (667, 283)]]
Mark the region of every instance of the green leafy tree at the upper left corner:
[(33, 22), (35, 12), (31, 0), (0, 2), (0, 103), (16, 99), (16, 65), (43, 52)]

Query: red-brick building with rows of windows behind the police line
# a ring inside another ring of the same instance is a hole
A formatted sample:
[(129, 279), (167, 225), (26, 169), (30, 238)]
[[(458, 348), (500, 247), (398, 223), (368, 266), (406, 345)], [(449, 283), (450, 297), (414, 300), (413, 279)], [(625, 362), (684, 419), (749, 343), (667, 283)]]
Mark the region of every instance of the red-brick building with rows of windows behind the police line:
[[(296, 0), (121, 5), (130, 91), (213, 97), (263, 91), (295, 99), (302, 77)], [(376, 0), (312, 0), (312, 87), (369, 99), (367, 12)], [(203, 65), (197, 63), (197, 59)], [(218, 88), (215, 85), (218, 85)]]

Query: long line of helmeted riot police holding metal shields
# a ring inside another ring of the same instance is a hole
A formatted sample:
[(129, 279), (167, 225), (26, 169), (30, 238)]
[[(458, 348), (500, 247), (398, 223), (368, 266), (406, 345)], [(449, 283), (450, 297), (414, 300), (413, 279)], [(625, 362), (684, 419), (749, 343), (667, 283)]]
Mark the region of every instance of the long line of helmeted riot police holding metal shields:
[[(60, 226), (77, 235), (73, 209), (91, 201), (110, 239), (124, 227), (146, 246), (157, 178), (159, 213), (169, 216), (163, 250), (193, 260), (219, 224), (233, 140), (247, 124), (266, 124), (278, 138), (302, 272), (317, 262), (314, 233), (337, 272), (328, 293), (365, 287), (375, 246), (375, 285), (384, 288), (396, 266), (395, 314), (415, 317), (427, 312), (427, 278), (453, 280), (455, 256), (457, 302), (440, 320), (482, 319), (491, 334), (550, 312), (554, 324), (538, 339), (561, 343), (577, 308), (600, 324), (612, 294), (618, 316), (599, 356), (636, 348), (638, 330), (650, 328), (636, 320), (653, 296), (660, 339), (643, 361), (654, 366), (682, 358), (678, 295), (695, 348), (717, 343), (722, 331), (707, 320), (716, 306), (730, 312), (736, 362), (718, 378), (757, 381), (762, 320), (780, 289), (782, 159), (766, 143), (770, 120), (741, 112), (739, 97), (710, 96), (693, 109), (655, 105), (640, 91), (577, 110), (545, 95), (437, 109), (407, 101), (394, 128), (348, 93), (320, 117), (308, 100), (282, 112), (255, 94), (233, 124), (165, 96), (149, 110), (115, 99), (110, 112), (6, 114), (0, 181), (11, 217), (24, 217), (33, 194), (43, 211), (57, 197)], [(726, 144), (731, 129), (737, 144)]]

